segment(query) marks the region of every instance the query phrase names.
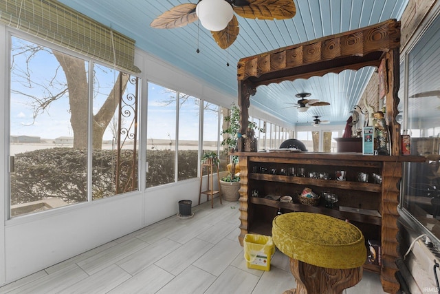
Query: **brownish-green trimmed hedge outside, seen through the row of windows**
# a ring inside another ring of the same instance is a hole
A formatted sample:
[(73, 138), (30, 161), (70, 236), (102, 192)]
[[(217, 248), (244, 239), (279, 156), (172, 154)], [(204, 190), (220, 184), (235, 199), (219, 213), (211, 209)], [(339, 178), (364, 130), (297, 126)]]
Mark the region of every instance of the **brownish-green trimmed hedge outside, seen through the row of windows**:
[[(133, 175), (137, 183), (137, 159), (133, 167), (133, 151), (122, 149), (118, 183), (115, 182), (116, 151), (98, 149), (93, 154), (93, 198), (115, 194), (115, 185), (123, 193), (131, 187)], [(179, 151), (178, 179), (197, 178), (197, 150)], [(174, 182), (175, 151), (148, 150), (147, 187)], [(14, 156), (11, 173), (11, 204), (61, 198), (67, 203), (87, 201), (87, 151), (85, 149), (52, 148), (23, 152)]]

